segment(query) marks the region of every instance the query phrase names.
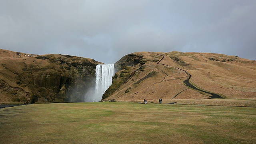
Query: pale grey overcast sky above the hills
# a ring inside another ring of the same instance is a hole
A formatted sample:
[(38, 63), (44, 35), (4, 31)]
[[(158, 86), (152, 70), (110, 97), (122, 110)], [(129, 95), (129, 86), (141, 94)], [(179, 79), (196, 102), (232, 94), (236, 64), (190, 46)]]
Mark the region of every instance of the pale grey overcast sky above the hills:
[(106, 64), (140, 51), (256, 60), (256, 0), (0, 0), (0, 48)]

